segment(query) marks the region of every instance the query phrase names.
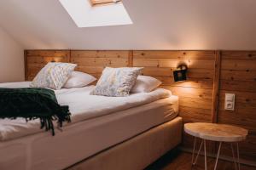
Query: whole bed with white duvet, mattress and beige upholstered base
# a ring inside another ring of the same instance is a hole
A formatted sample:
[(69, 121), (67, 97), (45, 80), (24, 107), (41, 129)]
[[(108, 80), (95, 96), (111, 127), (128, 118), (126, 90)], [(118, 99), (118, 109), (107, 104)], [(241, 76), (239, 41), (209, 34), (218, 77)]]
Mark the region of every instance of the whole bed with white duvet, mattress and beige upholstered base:
[(90, 95), (92, 88), (55, 91), (58, 102), (69, 105), (72, 122), (55, 129), (54, 137), (37, 120), (0, 120), (0, 169), (142, 169), (181, 142), (178, 98), (170, 91), (109, 98)]

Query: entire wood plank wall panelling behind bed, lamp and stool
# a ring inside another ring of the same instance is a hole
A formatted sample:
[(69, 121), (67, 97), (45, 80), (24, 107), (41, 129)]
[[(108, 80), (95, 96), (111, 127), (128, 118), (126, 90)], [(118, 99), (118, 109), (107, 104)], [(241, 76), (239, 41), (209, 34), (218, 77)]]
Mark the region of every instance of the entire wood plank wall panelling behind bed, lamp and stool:
[[(248, 128), (250, 135), (241, 144), (241, 158), (256, 160), (256, 52), (26, 50), (26, 80), (32, 80), (52, 60), (76, 63), (78, 71), (95, 77), (101, 76), (105, 66), (143, 66), (143, 75), (160, 79), (163, 88), (179, 96), (184, 122), (220, 122)], [(173, 82), (172, 71), (179, 64), (189, 66), (186, 82)], [(236, 111), (224, 111), (225, 93), (236, 94)], [(184, 134), (183, 146), (192, 144), (192, 138)], [(229, 155), (230, 150), (226, 150), (224, 154)]]

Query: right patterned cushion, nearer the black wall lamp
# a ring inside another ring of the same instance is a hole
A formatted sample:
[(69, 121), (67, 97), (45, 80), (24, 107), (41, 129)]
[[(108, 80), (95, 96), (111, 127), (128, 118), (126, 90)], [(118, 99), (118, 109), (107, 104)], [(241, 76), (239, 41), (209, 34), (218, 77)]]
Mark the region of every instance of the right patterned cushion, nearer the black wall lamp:
[(137, 67), (107, 67), (102, 72), (102, 77), (97, 82), (96, 88), (90, 94), (112, 97), (127, 96), (142, 70), (143, 68)]

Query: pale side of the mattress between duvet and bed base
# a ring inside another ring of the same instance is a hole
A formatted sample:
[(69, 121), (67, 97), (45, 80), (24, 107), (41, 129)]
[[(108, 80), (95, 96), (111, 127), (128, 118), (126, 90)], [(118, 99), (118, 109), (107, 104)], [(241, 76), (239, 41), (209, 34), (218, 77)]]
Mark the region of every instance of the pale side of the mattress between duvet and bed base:
[(56, 131), (55, 137), (36, 133), (2, 141), (0, 169), (63, 169), (170, 121), (177, 112), (178, 98), (172, 95), (70, 124), (63, 127), (63, 132)]

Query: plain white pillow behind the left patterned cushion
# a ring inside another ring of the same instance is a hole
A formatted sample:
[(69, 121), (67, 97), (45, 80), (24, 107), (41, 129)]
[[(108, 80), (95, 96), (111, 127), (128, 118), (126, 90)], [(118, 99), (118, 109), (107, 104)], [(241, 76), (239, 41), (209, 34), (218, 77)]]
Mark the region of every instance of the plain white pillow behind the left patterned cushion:
[(96, 77), (93, 77), (90, 74), (73, 71), (71, 77), (68, 78), (63, 88), (83, 88), (94, 81), (96, 81)]

